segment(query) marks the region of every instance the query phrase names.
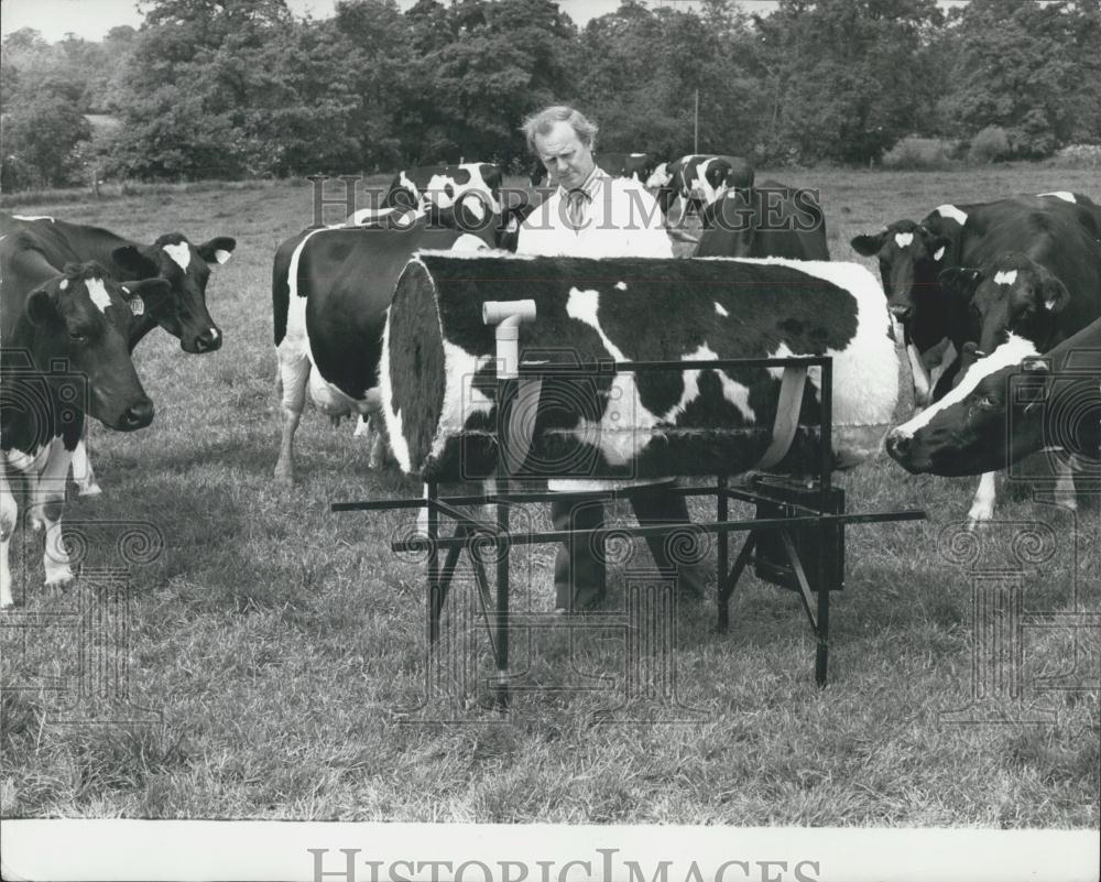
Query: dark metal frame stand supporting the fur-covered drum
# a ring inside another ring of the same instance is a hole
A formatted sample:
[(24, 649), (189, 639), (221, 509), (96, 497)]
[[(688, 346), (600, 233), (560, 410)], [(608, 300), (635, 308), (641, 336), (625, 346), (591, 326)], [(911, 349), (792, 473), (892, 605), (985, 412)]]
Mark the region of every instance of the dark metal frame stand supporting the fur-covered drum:
[[(773, 359), (724, 359), (710, 361), (683, 362), (620, 362), (615, 364), (619, 371), (656, 371), (656, 370), (729, 370), (737, 368), (784, 368), (806, 371), (807, 368), (821, 369), (821, 456), (818, 472), (807, 483), (797, 483), (791, 479), (760, 476), (746, 484), (731, 486), (729, 476), (715, 477), (713, 483), (696, 488), (663, 488), (664, 492), (682, 496), (704, 496), (716, 499), (716, 520), (706, 523), (693, 523), (695, 532), (713, 533), (718, 538), (718, 592), (717, 617), (718, 630), (726, 632), (730, 625), (730, 599), (738, 581), (750, 563), (755, 565), (759, 578), (796, 591), (811, 632), (815, 635), (815, 682), (825, 686), (829, 662), (829, 600), (830, 592), (841, 590), (844, 581), (844, 525), (870, 524), (887, 521), (924, 520), (926, 514), (920, 510), (904, 510), (893, 512), (844, 512), (844, 493), (832, 487), (832, 360), (829, 357), (799, 357)], [(553, 367), (521, 366), (522, 377), (542, 375), (557, 372)], [(502, 402), (514, 401), (517, 384), (523, 382), (516, 377), (499, 378), (497, 381), (497, 402), (502, 411)], [(666, 535), (676, 527), (635, 526), (613, 530), (582, 530), (569, 533), (566, 531), (547, 531), (542, 533), (512, 534), (509, 530), (509, 509), (515, 504), (544, 503), (552, 500), (560, 502), (581, 502), (586, 500), (611, 500), (621, 494), (614, 490), (558, 493), (558, 492), (524, 492), (513, 491), (510, 486), (510, 464), (522, 462), (524, 451), (509, 449), (510, 437), (520, 437), (509, 427), (500, 427), (498, 433), (498, 478), (497, 489), (492, 494), (442, 497), (438, 486), (430, 481), (425, 486), (423, 499), (379, 500), (362, 502), (337, 502), (333, 511), (382, 511), (395, 509), (428, 510), (428, 639), (435, 644), (439, 639), (439, 618), (447, 599), (448, 588), (455, 574), (458, 558), (464, 548), (467, 549), (478, 584), (479, 600), (483, 619), (490, 635), (495, 661), (495, 675), (492, 689), (494, 703), (505, 708), (509, 705), (509, 558), (512, 547), (559, 543), (570, 536), (581, 541), (602, 541), (610, 534), (619, 537), (644, 537)], [(530, 433), (528, 433), (530, 437)], [(573, 477), (573, 476), (559, 476)], [(590, 476), (577, 476), (590, 477)], [(633, 492), (637, 492), (634, 490)], [(729, 501), (750, 502), (756, 507), (756, 516), (748, 520), (730, 520)], [(461, 505), (493, 504), (497, 507), (494, 523), (477, 521), (459, 510)], [(439, 515), (455, 523), (450, 536), (439, 536)], [(728, 569), (730, 533), (748, 533), (742, 547), (732, 566)], [(424, 548), (424, 538), (413, 538), (392, 543), (395, 552), (410, 552)], [(480, 559), (478, 547), (492, 547), (497, 556), (497, 590), (490, 591), (486, 567)], [(443, 566), (439, 565), (439, 551), (446, 552)]]

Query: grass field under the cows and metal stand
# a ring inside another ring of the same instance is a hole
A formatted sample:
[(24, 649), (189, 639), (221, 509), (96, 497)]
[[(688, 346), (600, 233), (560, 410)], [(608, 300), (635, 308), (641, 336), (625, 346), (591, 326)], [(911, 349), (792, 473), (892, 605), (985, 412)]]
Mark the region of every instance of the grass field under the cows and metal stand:
[[(854, 259), (853, 235), (947, 200), (1095, 188), (1084, 171), (1029, 167), (775, 176), (821, 189), (838, 260)], [(885, 459), (840, 477), (850, 510), (920, 507), (929, 520), (849, 532), (828, 689), (814, 686), (795, 597), (746, 577), (728, 634), (716, 633), (711, 603), (678, 612), (679, 707), (629, 706), (601, 722), (614, 690), (536, 689), (503, 720), (481, 707), (478, 685), (399, 712), (424, 692), (423, 565), (390, 551), (404, 519), (328, 507), (419, 487), (370, 472), (351, 426), (312, 411), (297, 436), (298, 486), (272, 481), (271, 259), (310, 222), (310, 199), (307, 187), (274, 185), (18, 209), (142, 241), (179, 230), (239, 244), (208, 294), (222, 349), (190, 357), (151, 335), (135, 361), (154, 424), (94, 431), (105, 494), (70, 496), (66, 511), (92, 538), (86, 577), (46, 591), (41, 551), (22, 533), (14, 543), (21, 606), (0, 614), (4, 816), (1098, 826), (1098, 631), (1051, 617), (1025, 627), (1022, 690), (978, 708), (1009, 722), (942, 718), (971, 696), (973, 575), (957, 529), (975, 482), (912, 477)], [(547, 525), (546, 512), (532, 516)], [(1076, 515), (1015, 487), (999, 518), (977, 534), (972, 568), (1017, 567), (1000, 578), (1020, 578), (1028, 613), (1101, 608), (1095, 499)], [(90, 568), (118, 565), (116, 537), (134, 521), (155, 524), (164, 549), (133, 567), (109, 606)], [(552, 552), (515, 555), (517, 607), (553, 606)], [(613, 576), (612, 609), (623, 585)], [(469, 599), (453, 600), (455, 622)], [(120, 623), (107, 644), (81, 638), (81, 603)], [(584, 685), (586, 672), (620, 684), (613, 628), (573, 644), (563, 630), (533, 633), (528, 682)], [(481, 633), (477, 646), (488, 675)], [(124, 688), (80, 698), (88, 658), (120, 665)]]

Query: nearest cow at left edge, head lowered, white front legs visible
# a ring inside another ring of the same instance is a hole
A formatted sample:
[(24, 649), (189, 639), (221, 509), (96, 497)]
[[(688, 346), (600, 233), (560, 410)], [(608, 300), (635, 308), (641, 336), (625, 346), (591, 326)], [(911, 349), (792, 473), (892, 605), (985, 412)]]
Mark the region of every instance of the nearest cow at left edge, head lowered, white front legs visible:
[(18, 521), (11, 481), (28, 483), (31, 525), (43, 531), (46, 586), (73, 579), (62, 542), (69, 460), (85, 413), (109, 428), (132, 432), (153, 421), (130, 357), (133, 326), (160, 311), (163, 279), (120, 285), (97, 263), (58, 272), (21, 235), (0, 241), (0, 607), (11, 606), (10, 542)]

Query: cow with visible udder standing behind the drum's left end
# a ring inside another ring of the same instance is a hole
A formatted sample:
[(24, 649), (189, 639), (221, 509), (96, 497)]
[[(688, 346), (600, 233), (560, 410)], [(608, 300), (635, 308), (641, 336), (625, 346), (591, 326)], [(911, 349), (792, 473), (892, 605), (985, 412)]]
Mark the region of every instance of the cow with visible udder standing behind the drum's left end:
[(360, 416), (357, 434), (373, 429), (370, 466), (382, 464), (379, 357), (399, 274), (419, 249), (514, 249), (519, 222), (530, 210), (495, 215), (479, 195), (466, 194), (447, 209), (407, 213), (396, 222), (382, 210), (374, 225), (360, 215), (359, 226), (305, 230), (279, 247), (272, 271), (283, 417), (276, 479), (294, 482), (294, 435), (307, 389), (335, 423)]

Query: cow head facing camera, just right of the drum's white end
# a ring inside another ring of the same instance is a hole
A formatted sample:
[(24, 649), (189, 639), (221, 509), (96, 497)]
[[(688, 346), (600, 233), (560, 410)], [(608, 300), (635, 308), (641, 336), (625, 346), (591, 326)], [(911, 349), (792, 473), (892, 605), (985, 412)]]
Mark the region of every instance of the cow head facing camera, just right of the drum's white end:
[(850, 244), (858, 254), (879, 259), (887, 308), (905, 323), (914, 317), (922, 295), (937, 285), (951, 240), (923, 224), (898, 220), (880, 232), (857, 236)]

